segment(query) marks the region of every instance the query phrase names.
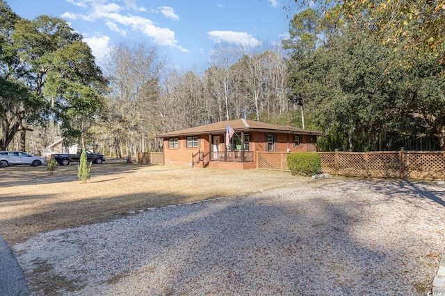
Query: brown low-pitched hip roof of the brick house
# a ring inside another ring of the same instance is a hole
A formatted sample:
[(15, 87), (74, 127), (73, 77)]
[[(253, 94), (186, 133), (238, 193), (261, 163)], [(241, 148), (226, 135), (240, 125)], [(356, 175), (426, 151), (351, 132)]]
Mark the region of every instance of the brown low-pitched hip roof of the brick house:
[(220, 121), (207, 125), (200, 125), (195, 128), (186, 128), (185, 130), (176, 130), (174, 132), (165, 132), (164, 134), (156, 135), (156, 138), (170, 138), (192, 135), (197, 136), (200, 134), (223, 134), (227, 130), (227, 125), (230, 125), (230, 127), (232, 127), (235, 132), (280, 132), (289, 134), (309, 134), (314, 136), (323, 135), (323, 133), (321, 132), (302, 130), (301, 128), (294, 128), (293, 126), (289, 125), (275, 125), (258, 121), (238, 119), (230, 121)]

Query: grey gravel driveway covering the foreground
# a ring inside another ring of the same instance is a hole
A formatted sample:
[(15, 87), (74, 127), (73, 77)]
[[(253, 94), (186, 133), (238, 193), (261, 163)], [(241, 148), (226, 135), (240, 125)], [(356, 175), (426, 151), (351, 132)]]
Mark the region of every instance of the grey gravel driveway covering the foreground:
[(162, 207), (13, 250), (33, 295), (425, 295), (444, 217), (443, 185), (336, 180)]

